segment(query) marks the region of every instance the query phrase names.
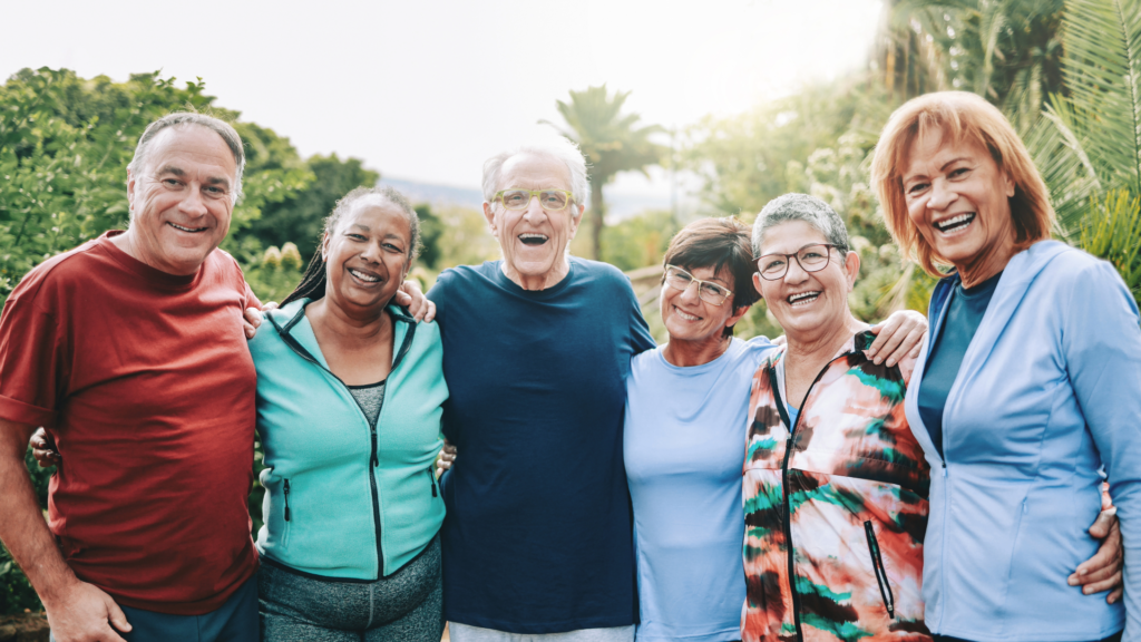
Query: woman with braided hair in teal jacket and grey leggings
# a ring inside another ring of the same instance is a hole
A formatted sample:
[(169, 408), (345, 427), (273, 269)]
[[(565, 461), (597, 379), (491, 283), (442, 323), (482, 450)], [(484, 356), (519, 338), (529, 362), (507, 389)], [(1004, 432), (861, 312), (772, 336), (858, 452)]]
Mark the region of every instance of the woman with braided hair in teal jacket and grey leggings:
[(419, 222), (357, 188), (250, 342), (265, 447), (261, 637), (438, 642), (444, 520), (432, 462), (447, 386), (439, 331), (393, 296)]

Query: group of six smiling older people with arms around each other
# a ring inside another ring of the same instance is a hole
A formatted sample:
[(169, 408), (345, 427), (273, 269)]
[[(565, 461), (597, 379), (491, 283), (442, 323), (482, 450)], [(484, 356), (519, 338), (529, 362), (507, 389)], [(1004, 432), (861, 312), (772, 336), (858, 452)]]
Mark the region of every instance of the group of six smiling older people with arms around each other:
[[(569, 143), (484, 164), (502, 259), (424, 297), (415, 211), (361, 187), (262, 307), (217, 250), (243, 164), (221, 121), (152, 123), (128, 230), (0, 316), (0, 539), (55, 640), (1141, 639), (1138, 308), (1050, 240), (984, 99), (916, 98), (875, 152), (889, 230), (940, 276), (930, 327), (857, 320), (842, 218), (786, 194), (678, 233), (656, 346), (625, 276), (567, 252)], [(734, 337), (761, 298), (784, 342)]]

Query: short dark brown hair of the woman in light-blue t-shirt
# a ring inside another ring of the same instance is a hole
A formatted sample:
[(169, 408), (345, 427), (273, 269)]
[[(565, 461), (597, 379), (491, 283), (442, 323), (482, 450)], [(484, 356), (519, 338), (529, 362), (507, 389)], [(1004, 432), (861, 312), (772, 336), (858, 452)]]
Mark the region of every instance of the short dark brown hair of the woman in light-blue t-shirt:
[[(731, 216), (725, 218), (702, 218), (681, 228), (670, 241), (662, 265), (675, 265), (685, 270), (712, 267), (714, 273), (728, 267), (733, 274), (734, 308), (753, 305), (761, 296), (753, 288), (753, 247), (748, 225)], [(662, 273), (665, 282), (665, 273)], [(733, 326), (725, 329), (722, 337), (733, 336)]]

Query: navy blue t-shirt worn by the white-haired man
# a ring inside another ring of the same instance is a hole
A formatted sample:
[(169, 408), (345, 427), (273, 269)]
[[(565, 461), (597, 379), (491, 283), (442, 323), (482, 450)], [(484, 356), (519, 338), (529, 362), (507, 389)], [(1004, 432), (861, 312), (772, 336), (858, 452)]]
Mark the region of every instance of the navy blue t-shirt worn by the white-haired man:
[(630, 281), (570, 259), (545, 290), (499, 260), (440, 274), (444, 616), (512, 633), (638, 619), (622, 460), (630, 359), (654, 347)]

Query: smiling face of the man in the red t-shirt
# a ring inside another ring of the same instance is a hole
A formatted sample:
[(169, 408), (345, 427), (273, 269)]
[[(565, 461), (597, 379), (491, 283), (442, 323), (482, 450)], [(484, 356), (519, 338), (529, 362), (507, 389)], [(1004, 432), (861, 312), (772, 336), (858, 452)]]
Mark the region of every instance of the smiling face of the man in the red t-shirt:
[(192, 125), (160, 131), (146, 160), (139, 176), (128, 171), (130, 254), (168, 274), (194, 274), (229, 231), (234, 154)]

